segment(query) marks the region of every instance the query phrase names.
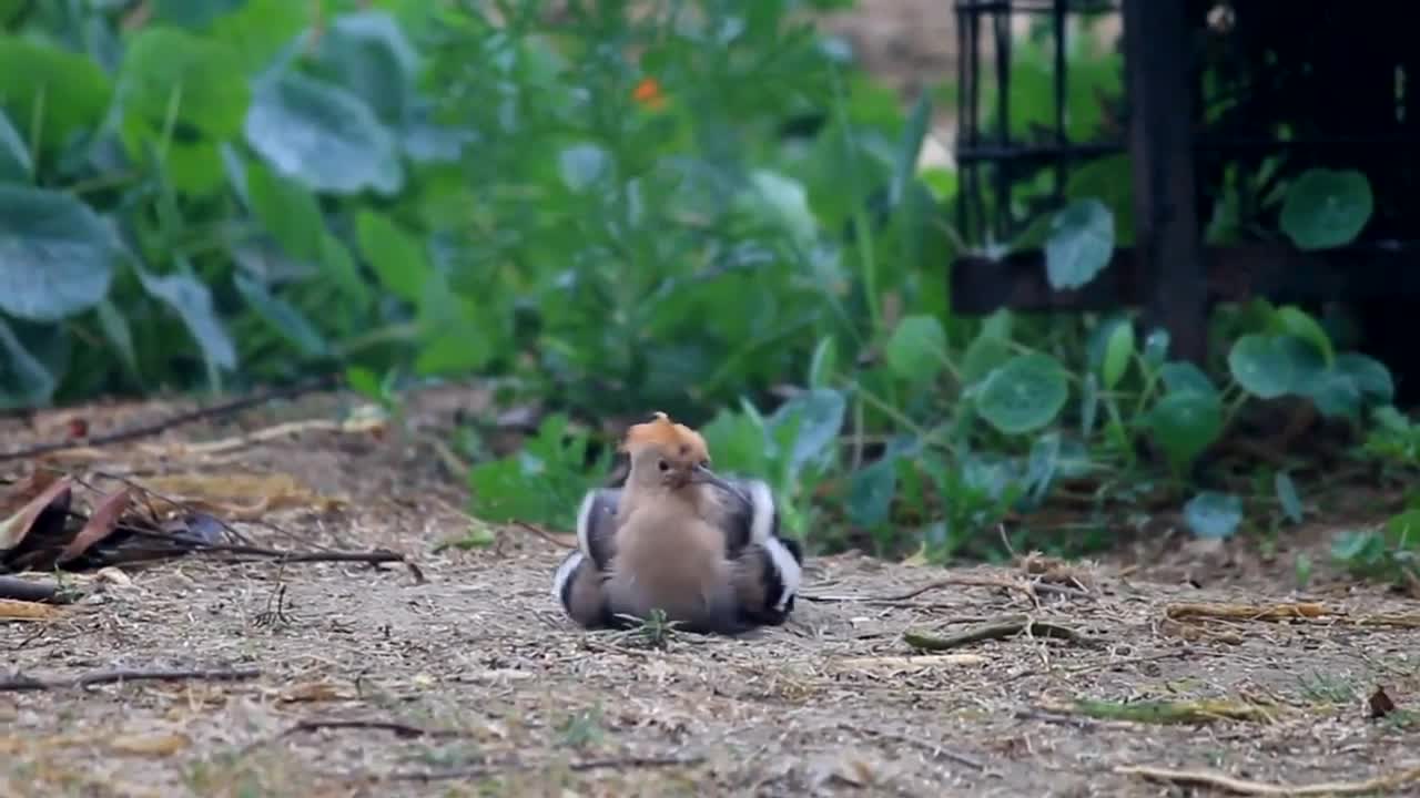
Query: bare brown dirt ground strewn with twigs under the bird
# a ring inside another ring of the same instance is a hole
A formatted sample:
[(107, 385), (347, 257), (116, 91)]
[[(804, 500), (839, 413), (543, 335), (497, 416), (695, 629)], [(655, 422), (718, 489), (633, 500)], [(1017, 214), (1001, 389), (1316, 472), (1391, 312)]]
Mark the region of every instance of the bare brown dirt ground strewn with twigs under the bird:
[[(196, 558), (68, 578), (87, 596), (58, 618), (0, 622), (0, 677), (260, 676), (0, 692), (0, 795), (1183, 795), (1118, 768), (1309, 784), (1420, 765), (1420, 724), (1404, 711), (1420, 694), (1417, 633), (1353, 622), (1413, 605), (1339, 582), (1292, 595), (1277, 586), (1285, 569), (1268, 574), (1247, 552), (1079, 564), (1034, 589), (1018, 568), (811, 557), (784, 628), (672, 635), (663, 649), (579, 630), (548, 591), (559, 538), (511, 528), (486, 548), (436, 552), (471, 523), (429, 440), (454, 408), (477, 405), (469, 392), (429, 392), (410, 406), (413, 432), (379, 437), (253, 434), (351, 410), (310, 398), (53, 460), (138, 480), (217, 476), (219, 494), (240, 493), (241, 474), (291, 476), (315, 496), (247, 513), (267, 521), (237, 524), (256, 542), (388, 547), (422, 579), (398, 565)], [(0, 440), (10, 450), (62, 437), (75, 415), (102, 433), (172, 412), (47, 413), (0, 422)], [(200, 440), (244, 444), (186, 446)], [(983, 585), (903, 598), (944, 576)], [(1166, 618), (1177, 602), (1299, 599), (1349, 619)], [(1018, 613), (1082, 638), (1051, 639), (1038, 625), (939, 655), (903, 638)], [(1370, 720), (1377, 687), (1402, 710)], [(1076, 700), (1231, 709), (1160, 724), (1102, 718)], [(1218, 717), (1238, 709), (1254, 716)]]

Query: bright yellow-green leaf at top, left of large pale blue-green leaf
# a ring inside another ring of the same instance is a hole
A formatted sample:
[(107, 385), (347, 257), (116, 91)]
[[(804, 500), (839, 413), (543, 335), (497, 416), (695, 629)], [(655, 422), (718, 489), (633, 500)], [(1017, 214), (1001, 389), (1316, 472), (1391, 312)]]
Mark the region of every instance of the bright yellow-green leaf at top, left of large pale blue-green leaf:
[(237, 135), (251, 102), (230, 47), (178, 28), (143, 28), (119, 71), (119, 101), (162, 129), (170, 114), (213, 141)]

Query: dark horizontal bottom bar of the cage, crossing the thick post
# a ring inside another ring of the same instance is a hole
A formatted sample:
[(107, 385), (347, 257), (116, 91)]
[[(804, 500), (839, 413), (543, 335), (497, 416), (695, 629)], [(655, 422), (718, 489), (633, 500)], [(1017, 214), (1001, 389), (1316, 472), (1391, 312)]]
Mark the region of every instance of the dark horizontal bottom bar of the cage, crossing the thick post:
[[(1200, 263), (1207, 305), (1257, 297), (1278, 302), (1420, 300), (1420, 241), (1316, 251), (1285, 244), (1204, 247)], [(951, 264), (951, 310), (985, 315), (998, 308), (1082, 312), (1147, 305), (1154, 300), (1152, 283), (1135, 247), (1115, 250), (1095, 280), (1071, 291), (1051, 288), (1039, 250), (1000, 260), (966, 256)]]

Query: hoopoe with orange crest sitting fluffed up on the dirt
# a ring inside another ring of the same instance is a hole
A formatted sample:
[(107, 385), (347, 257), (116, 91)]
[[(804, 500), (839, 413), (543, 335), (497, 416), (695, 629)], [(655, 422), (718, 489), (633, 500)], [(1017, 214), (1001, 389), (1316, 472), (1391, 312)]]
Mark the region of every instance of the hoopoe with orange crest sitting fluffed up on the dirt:
[(714, 474), (704, 439), (665, 413), (632, 426), (621, 449), (625, 486), (586, 493), (578, 548), (552, 578), (567, 613), (585, 628), (623, 626), (656, 608), (692, 632), (782, 623), (802, 550), (780, 537), (770, 487)]

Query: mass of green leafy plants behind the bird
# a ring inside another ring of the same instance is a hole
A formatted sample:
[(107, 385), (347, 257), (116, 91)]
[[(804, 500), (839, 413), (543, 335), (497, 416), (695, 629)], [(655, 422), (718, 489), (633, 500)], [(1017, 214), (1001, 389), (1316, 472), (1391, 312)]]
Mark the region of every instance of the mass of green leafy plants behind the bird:
[[(815, 545), (936, 559), (991, 554), (1061, 486), (1091, 486), (1092, 514), (1018, 535), (1103, 545), (1112, 503), (1160, 491), (1198, 535), (1298, 523), (1287, 471), (1260, 504), (1200, 470), (1257, 402), (1312, 402), (1414, 460), (1384, 366), (1301, 308), (1220, 315), (1201, 369), (1126, 314), (954, 317), (964, 247), (1093, 280), (1130, 243), (1127, 158), (1076, 170), (1061, 206), (990, 197), (1032, 223), (963, 241), (954, 172), (917, 166), (929, 97), (903, 108), (807, 14), (843, 4), (0, 3), (0, 402), (494, 375), (557, 415), (473, 467), (490, 520), (565, 523), (605, 464), (569, 419), (663, 409), (770, 479)], [(1072, 41), (1088, 139), (1120, 62)], [(1049, 50), (1012, 58), (1025, 136), (1049, 122)], [(1343, 165), (1268, 203), (1299, 248), (1372, 213)], [(1210, 240), (1241, 224), (1223, 202)], [(1379, 534), (1346, 551), (1394, 564)]]

